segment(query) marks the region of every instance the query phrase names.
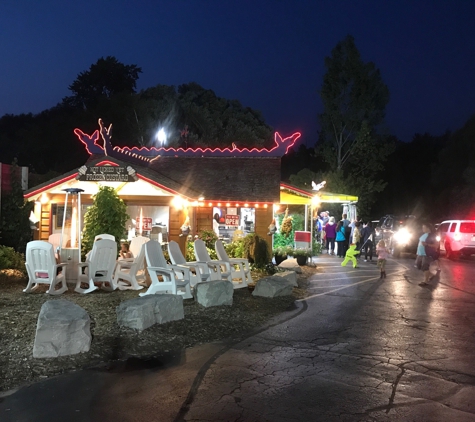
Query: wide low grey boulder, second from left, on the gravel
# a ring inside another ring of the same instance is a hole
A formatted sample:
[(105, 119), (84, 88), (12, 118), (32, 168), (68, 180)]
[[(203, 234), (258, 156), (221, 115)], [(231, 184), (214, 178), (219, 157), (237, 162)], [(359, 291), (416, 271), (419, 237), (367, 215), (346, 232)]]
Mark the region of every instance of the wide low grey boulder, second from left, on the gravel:
[(185, 318), (181, 295), (145, 295), (122, 302), (116, 308), (121, 327), (143, 331), (154, 324), (164, 324)]

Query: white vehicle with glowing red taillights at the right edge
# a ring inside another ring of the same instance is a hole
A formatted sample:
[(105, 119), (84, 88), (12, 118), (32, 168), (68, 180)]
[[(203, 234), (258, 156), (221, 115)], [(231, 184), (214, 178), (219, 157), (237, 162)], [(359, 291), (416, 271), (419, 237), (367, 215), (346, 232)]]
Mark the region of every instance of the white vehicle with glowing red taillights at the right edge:
[(437, 229), (440, 249), (449, 259), (475, 254), (475, 220), (447, 220)]

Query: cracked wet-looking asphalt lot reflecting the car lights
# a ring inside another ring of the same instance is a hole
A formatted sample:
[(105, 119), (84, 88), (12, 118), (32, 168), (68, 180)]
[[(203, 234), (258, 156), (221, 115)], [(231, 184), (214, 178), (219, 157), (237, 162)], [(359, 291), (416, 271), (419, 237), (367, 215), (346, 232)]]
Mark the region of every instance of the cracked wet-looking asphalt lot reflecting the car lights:
[(411, 259), (384, 280), (339, 262), (319, 258), (312, 296), (244, 341), (39, 383), (0, 420), (475, 421), (475, 262), (441, 260), (430, 287)]

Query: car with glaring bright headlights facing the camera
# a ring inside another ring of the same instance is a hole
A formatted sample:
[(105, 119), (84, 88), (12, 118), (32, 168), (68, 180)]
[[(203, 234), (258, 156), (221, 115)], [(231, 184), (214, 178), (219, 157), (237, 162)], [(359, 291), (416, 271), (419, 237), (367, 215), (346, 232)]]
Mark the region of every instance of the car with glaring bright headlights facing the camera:
[(401, 253), (416, 253), (422, 223), (413, 215), (386, 215), (379, 220), (377, 240), (383, 239), (391, 254), (397, 258)]

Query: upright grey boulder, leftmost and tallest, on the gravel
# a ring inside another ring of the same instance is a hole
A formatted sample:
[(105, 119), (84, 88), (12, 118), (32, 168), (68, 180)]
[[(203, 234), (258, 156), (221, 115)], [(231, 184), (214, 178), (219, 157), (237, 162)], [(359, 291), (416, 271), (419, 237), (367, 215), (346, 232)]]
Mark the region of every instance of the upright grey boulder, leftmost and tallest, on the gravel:
[(54, 358), (88, 352), (91, 320), (87, 312), (69, 300), (43, 303), (36, 326), (34, 358)]

